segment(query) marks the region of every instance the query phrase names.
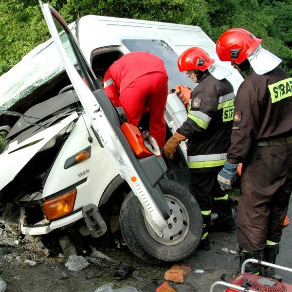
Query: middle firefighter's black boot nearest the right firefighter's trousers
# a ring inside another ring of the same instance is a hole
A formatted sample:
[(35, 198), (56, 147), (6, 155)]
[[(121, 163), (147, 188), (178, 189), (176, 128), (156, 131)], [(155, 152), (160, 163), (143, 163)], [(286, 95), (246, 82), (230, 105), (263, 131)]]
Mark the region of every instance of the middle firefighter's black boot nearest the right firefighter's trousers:
[(234, 231), (236, 223), (230, 199), (217, 200), (214, 202), (215, 212), (218, 219), (214, 221), (214, 227), (221, 231)]

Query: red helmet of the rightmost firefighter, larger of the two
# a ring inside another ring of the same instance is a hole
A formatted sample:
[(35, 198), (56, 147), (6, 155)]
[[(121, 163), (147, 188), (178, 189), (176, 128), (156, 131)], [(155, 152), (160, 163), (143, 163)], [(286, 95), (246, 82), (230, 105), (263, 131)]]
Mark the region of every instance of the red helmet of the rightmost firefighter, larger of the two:
[(231, 28), (219, 37), (216, 53), (221, 61), (240, 64), (255, 51), (261, 41), (261, 38), (255, 37), (245, 29)]

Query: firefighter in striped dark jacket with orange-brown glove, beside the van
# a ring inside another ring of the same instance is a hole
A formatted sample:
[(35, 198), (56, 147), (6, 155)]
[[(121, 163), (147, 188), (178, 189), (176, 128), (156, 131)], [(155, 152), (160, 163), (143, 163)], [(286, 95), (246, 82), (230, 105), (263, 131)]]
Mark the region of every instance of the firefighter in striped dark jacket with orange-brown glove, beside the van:
[(225, 79), (231, 72), (215, 63), (201, 48), (187, 49), (178, 59), (181, 72), (199, 85), (191, 92), (191, 103), (183, 125), (164, 146), (164, 154), (173, 159), (177, 146), (188, 139), (187, 160), (190, 192), (201, 207), (203, 235), (199, 249), (210, 250), (209, 229), (212, 205), (219, 219), (217, 227), (235, 230), (235, 219), (227, 192), (217, 183), (217, 174), (226, 161), (233, 121), (233, 87)]

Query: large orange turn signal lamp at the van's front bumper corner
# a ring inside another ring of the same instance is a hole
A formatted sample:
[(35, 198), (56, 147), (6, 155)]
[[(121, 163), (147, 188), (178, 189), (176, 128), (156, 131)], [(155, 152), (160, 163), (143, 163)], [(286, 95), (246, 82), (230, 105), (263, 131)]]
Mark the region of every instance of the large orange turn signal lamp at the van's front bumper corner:
[(53, 220), (73, 211), (77, 189), (62, 194), (43, 203), (44, 212), (48, 220)]

